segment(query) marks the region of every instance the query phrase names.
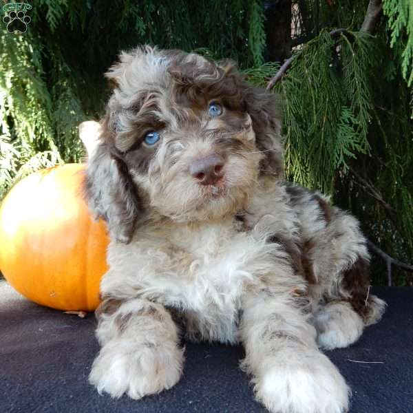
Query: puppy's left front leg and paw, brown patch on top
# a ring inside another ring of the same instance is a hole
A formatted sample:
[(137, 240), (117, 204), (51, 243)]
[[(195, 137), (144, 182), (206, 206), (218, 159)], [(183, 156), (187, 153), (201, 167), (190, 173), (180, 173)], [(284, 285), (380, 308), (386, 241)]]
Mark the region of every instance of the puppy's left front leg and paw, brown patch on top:
[(175, 385), (182, 374), (178, 328), (160, 304), (107, 298), (97, 310), (102, 345), (89, 376), (98, 392), (132, 399)]

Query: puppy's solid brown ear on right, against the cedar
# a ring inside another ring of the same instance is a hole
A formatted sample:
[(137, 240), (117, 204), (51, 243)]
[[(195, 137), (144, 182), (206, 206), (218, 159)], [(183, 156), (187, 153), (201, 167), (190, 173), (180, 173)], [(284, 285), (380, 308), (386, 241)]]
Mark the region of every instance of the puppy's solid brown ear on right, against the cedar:
[(263, 151), (264, 155), (260, 165), (261, 173), (283, 178), (279, 98), (265, 89), (246, 84), (244, 103), (253, 121), (257, 148)]

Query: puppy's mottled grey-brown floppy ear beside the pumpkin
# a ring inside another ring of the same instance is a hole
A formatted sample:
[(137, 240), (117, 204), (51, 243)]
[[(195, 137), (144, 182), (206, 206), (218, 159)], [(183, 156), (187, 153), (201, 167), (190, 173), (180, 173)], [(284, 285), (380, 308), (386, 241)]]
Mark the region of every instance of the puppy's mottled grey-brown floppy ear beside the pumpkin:
[(114, 146), (109, 114), (103, 120), (98, 145), (87, 162), (85, 196), (96, 218), (107, 222), (111, 237), (129, 243), (143, 209), (123, 155)]

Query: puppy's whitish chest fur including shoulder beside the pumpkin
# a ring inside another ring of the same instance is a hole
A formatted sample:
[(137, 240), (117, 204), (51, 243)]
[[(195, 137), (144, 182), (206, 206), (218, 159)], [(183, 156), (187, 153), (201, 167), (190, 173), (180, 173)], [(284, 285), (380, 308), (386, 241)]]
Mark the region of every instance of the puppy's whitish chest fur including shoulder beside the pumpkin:
[(137, 232), (131, 244), (110, 244), (102, 293), (155, 299), (182, 310), (202, 337), (237, 341), (242, 296), (273, 268), (271, 246), (235, 219)]

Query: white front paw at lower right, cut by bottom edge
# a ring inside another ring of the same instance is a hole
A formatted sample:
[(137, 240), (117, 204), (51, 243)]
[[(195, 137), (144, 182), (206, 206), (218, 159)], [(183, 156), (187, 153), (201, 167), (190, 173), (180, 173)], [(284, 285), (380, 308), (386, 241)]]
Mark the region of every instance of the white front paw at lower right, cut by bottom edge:
[[(297, 359), (297, 357), (295, 357)], [(274, 364), (256, 379), (259, 399), (272, 413), (343, 413), (350, 388), (331, 361), (321, 353), (299, 363)]]

